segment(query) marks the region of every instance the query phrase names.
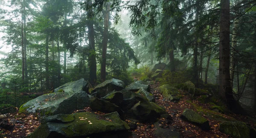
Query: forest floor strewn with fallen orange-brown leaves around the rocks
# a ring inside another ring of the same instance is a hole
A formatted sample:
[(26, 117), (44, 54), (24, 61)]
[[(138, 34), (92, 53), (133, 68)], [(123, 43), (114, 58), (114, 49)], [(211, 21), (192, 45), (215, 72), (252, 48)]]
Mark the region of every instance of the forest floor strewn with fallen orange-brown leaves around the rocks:
[[(218, 130), (220, 121), (208, 119), (210, 130), (201, 130), (200, 127), (191, 124), (187, 121), (184, 121), (180, 118), (183, 110), (186, 108), (190, 108), (196, 111), (196, 107), (201, 107), (203, 109), (210, 109), (209, 104), (202, 103), (198, 101), (197, 98), (192, 98), (191, 96), (183, 96), (182, 99), (178, 102), (166, 101), (163, 96), (156, 90), (159, 84), (156, 82), (155, 84), (151, 84), (151, 93), (156, 96), (156, 103), (165, 107), (166, 113), (172, 116), (171, 123), (167, 121), (165, 118), (160, 118), (159, 122), (163, 124), (165, 128), (168, 126), (172, 126), (176, 129), (177, 132), (180, 133), (180, 138), (231, 138), (229, 135), (226, 135)], [(91, 111), (89, 107), (85, 108), (84, 111)], [(76, 112), (76, 111), (75, 111)], [(80, 112), (80, 111), (79, 111)], [(94, 112), (95, 114), (104, 114), (101, 112)], [(251, 119), (244, 115), (237, 115), (233, 113), (229, 114), (221, 114), (216, 113), (224, 118), (235, 118), (238, 121), (245, 122), (249, 124), (251, 127), (256, 128), (255, 122), (252, 122)], [(40, 125), (40, 118), (38, 115), (23, 115), (19, 113), (15, 113), (11, 115), (9, 118), (4, 119), (0, 124), (9, 124), (6, 129), (1, 129), (0, 127), (0, 138), (25, 138), (26, 135), (29, 135)], [(254, 116), (253, 118), (256, 118)], [(129, 120), (126, 120), (129, 123)], [(3, 127), (3, 126), (2, 126)], [(10, 127), (10, 128), (8, 128)], [(150, 123), (137, 123), (137, 129), (132, 130), (133, 138), (154, 138), (154, 124)]]

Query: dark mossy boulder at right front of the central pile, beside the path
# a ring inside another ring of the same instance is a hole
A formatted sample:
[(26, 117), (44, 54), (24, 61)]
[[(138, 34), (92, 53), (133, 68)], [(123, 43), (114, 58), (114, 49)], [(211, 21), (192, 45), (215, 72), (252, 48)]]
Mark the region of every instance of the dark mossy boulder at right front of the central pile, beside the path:
[(149, 102), (148, 99), (137, 93), (128, 90), (122, 90), (122, 93), (123, 101), (120, 107), (130, 120), (152, 122), (165, 113), (163, 107), (160, 107), (154, 102)]

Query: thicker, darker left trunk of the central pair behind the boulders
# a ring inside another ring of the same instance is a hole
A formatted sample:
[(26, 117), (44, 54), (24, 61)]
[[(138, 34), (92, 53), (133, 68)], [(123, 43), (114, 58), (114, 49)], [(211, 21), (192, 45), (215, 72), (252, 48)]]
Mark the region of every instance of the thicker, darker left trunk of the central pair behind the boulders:
[[(92, 1), (88, 0), (88, 5), (91, 5)], [(89, 9), (87, 12), (87, 17), (89, 19), (87, 27), (88, 27), (88, 37), (89, 37), (89, 81), (91, 84), (96, 84), (96, 51), (95, 51), (95, 32), (93, 28), (93, 9)]]

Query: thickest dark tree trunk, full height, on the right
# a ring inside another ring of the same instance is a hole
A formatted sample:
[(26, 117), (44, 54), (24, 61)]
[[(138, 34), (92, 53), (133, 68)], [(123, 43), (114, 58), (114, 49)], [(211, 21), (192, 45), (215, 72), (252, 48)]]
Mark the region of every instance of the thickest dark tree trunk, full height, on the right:
[(220, 96), (233, 110), (236, 101), (230, 83), (230, 0), (221, 0), (219, 79)]

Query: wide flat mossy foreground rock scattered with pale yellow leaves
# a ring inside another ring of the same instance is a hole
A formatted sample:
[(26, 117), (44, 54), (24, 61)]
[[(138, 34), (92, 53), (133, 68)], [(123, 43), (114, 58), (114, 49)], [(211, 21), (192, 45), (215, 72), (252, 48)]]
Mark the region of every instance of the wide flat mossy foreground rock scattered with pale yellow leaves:
[(128, 130), (130, 127), (119, 118), (117, 112), (106, 115), (82, 112), (44, 118), (41, 125), (27, 138), (111, 138), (117, 133), (119, 137), (128, 138), (131, 135)]

